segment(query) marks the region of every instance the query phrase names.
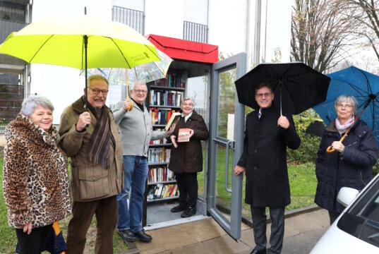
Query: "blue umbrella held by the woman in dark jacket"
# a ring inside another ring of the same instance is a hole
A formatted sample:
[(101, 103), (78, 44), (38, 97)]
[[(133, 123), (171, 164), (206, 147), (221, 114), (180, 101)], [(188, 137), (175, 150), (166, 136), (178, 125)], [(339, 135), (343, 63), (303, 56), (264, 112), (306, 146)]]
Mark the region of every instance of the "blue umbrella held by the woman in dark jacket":
[(370, 126), (379, 146), (379, 76), (351, 66), (327, 75), (332, 78), (327, 90), (325, 102), (313, 109), (320, 115), (325, 124), (337, 118), (335, 100), (339, 95), (354, 95), (359, 102), (360, 118)]

